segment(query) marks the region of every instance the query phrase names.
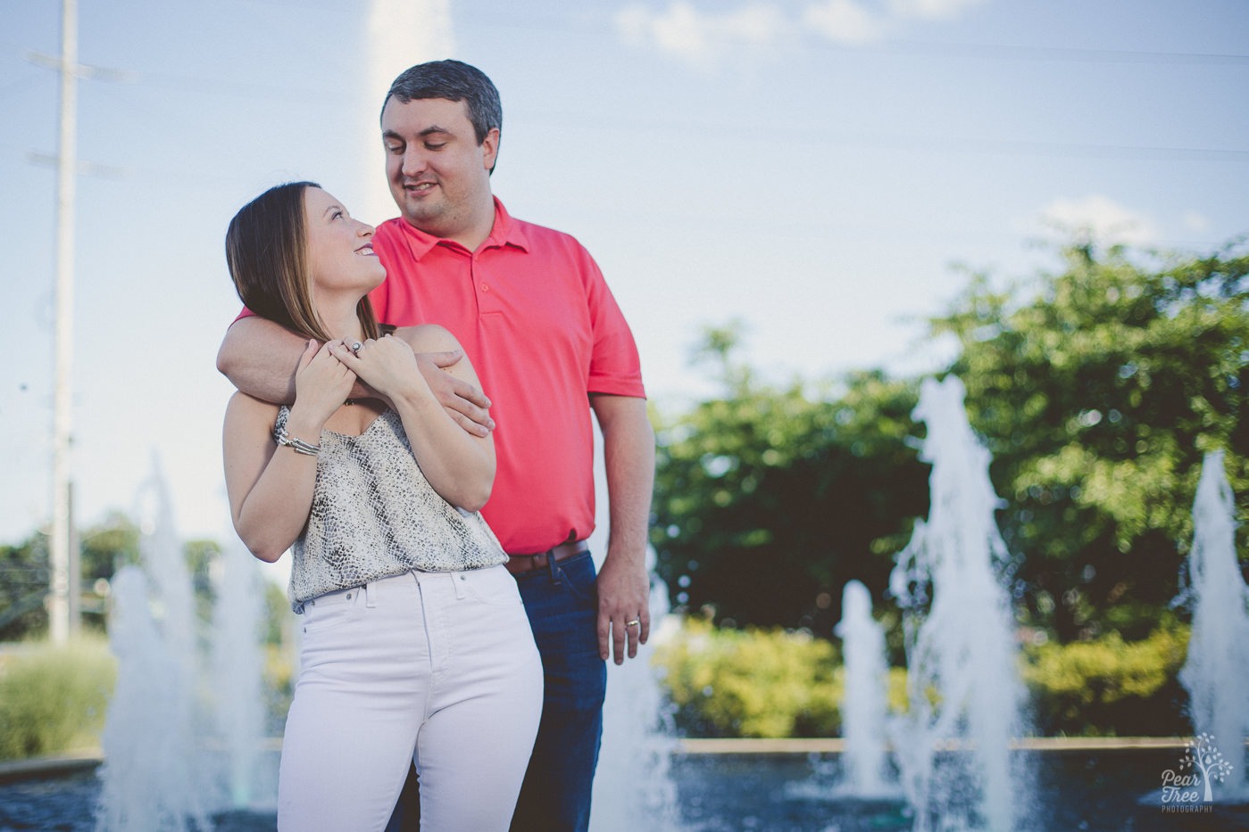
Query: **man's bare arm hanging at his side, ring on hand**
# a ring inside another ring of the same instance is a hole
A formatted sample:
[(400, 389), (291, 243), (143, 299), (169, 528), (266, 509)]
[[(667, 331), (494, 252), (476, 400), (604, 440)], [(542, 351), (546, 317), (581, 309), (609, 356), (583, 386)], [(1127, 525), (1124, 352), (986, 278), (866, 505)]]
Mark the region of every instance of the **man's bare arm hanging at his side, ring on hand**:
[[(598, 652), (623, 664), (651, 635), (651, 581), (646, 574), (647, 526), (654, 486), (654, 430), (646, 399), (593, 393), (590, 405), (603, 434), (611, 526), (598, 573)], [(641, 626), (626, 626), (638, 620)]]

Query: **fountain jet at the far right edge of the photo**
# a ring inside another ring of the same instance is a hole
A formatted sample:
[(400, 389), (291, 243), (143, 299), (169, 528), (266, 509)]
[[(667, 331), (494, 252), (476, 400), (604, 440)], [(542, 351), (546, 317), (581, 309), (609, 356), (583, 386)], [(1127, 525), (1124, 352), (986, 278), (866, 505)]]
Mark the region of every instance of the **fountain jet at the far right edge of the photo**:
[[(1188, 659), (1179, 680), (1188, 690), (1197, 735), (1190, 747), (1202, 796), (1249, 798), (1245, 736), (1249, 735), (1249, 588), (1237, 560), (1235, 503), (1223, 469), (1223, 452), (1205, 455), (1193, 503), (1193, 549), (1187, 600), (1193, 609)], [(1182, 595), (1182, 599), (1185, 596)], [(1222, 761), (1222, 765), (1220, 765)]]

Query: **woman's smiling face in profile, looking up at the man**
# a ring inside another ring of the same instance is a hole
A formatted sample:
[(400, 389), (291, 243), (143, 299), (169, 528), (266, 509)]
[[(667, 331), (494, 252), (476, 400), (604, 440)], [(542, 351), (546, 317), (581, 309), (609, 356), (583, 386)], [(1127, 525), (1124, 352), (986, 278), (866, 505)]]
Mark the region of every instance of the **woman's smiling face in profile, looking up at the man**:
[(352, 220), (342, 203), (321, 188), (304, 191), (304, 223), (315, 294), (356, 292), (363, 297), (386, 279), (386, 269), (373, 253), (373, 227)]

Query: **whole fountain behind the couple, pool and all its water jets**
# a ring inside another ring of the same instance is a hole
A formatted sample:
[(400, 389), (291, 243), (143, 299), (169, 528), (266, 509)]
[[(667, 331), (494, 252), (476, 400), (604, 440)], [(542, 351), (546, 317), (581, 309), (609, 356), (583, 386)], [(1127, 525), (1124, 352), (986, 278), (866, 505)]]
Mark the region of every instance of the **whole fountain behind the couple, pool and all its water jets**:
[[(869, 599), (861, 586), (851, 585), (837, 629), (846, 644), (847, 664), (846, 782), (818, 793), (791, 790), (817, 766), (814, 758), (796, 755), (753, 762), (748, 755), (714, 761), (698, 755), (669, 758), (672, 741), (659, 730), (661, 697), (646, 661), (649, 647), (643, 646), (637, 660), (608, 671), (603, 753), (592, 820), (596, 832), (638, 827), (667, 832), (683, 828), (683, 823), (708, 832), (1152, 830), (1164, 828), (1158, 825), (1173, 820), (1160, 815), (1157, 800), (1139, 800), (1143, 785), (1157, 783), (1159, 772), (1165, 776), (1175, 767), (1177, 751), (1172, 747), (1110, 756), (1043, 755), (1035, 765), (1033, 805), (1020, 800), (1020, 795), (1027, 795), (1024, 790), (1007, 791), (1004, 796), (1000, 791), (1003, 782), (1012, 788), (1019, 782), (1018, 772), (1012, 780), (1013, 760), (1007, 753), (1007, 740), (1018, 730), (1013, 717), (1019, 685), (1009, 671), (1013, 659), (1005, 636), (1010, 630), (1009, 601), (1000, 589), (1005, 551), (992, 523), (998, 501), (985, 475), (988, 454), (975, 443), (962, 414), (962, 387), (953, 379), (942, 385), (924, 385), (917, 414), (928, 423), (924, 458), (933, 464), (933, 509), (898, 556), (892, 581), (907, 610), (911, 712), (887, 722), (884, 733), (898, 750), (897, 765), (913, 816), (899, 815), (897, 801), (873, 802), (853, 795), (853, 783), (861, 783), (862, 778), (852, 771), (879, 771), (882, 733), (867, 728), (861, 735), (861, 727), (879, 725), (879, 710), (867, 717), (857, 716), (861, 711), (854, 702), (866, 700), (852, 691), (874, 690), (877, 709), (884, 695), (879, 672), (873, 670), (881, 647), (878, 632), (869, 631), (874, 626)], [(1235, 767), (1223, 772), (1230, 776), (1222, 781), (1212, 778), (1215, 800), (1204, 806), (1208, 815), (1190, 818), (1197, 826), (1185, 828), (1243, 828), (1249, 823), (1244, 806), (1234, 805), (1233, 791), (1244, 788), (1244, 767), (1238, 762), (1239, 756), (1233, 756), (1243, 747), (1238, 742), (1243, 742), (1244, 722), (1238, 727), (1232, 721), (1230, 738), (1220, 733), (1223, 717), (1244, 715), (1237, 710), (1245, 705), (1237, 694), (1243, 692), (1244, 645), (1249, 644), (1245, 609), (1249, 590), (1237, 568), (1234, 506), (1220, 472), (1222, 458), (1208, 458), (1194, 504), (1197, 534), (1185, 596), (1193, 602), (1194, 624), (1183, 679), (1192, 692), (1199, 738), (1209, 737), (1208, 746), (1218, 746)], [(107, 760), (99, 772), (59, 776), (51, 783), (0, 783), (0, 828), (206, 830), (214, 823), (219, 832), (272, 828), (271, 811), (216, 813), (236, 803), (264, 803), (270, 800), (266, 795), (271, 793), (267, 791), (271, 781), (265, 780), (267, 768), (261, 762), (259, 773), (252, 768), (250, 777), (236, 775), (242, 782), (232, 781), (232, 793), (214, 785), (221, 770), (205, 760), (221, 755), (202, 753), (204, 745), (242, 747), (229, 768), (232, 772), (247, 771), (255, 758), (249, 761), (251, 752), (245, 741), (224, 738), (224, 730), (219, 740), (214, 723), (200, 709), (212, 699), (199, 681), (201, 664), (192, 657), (199, 655), (194, 649), (199, 641), (197, 619), (176, 614), (190, 610), (190, 581), (181, 558), (171, 556), (181, 546), (172, 534), (171, 511), (159, 475), (150, 490), (157, 498), (157, 510), (155, 521), (144, 523), (142, 553), (152, 578), (144, 569), (127, 566), (117, 571), (112, 583), (111, 637), (121, 662), (104, 736)], [(593, 550), (602, 554), (603, 543), (595, 544)], [(236, 645), (259, 640), (254, 625), (227, 632), (231, 624), (247, 615), (246, 610), (255, 609), (254, 600), (247, 600), (255, 584), (246, 578), (249, 570), (244, 564), (255, 566), (236, 548), (222, 554), (220, 570), (214, 575), (220, 604), (214, 639)], [(182, 599), (182, 606), (170, 597)], [(662, 585), (656, 585), (651, 605), (653, 637), (659, 640), (667, 626)], [(866, 635), (863, 625), (871, 625)], [(184, 650), (187, 644), (192, 645), (189, 651)], [(232, 651), (219, 651), (216, 662), (225, 662), (225, 654)], [(861, 660), (863, 656), (867, 659)], [(255, 701), (245, 691), (257, 690), (259, 664), (247, 657), (236, 667), (240, 679), (217, 689), (219, 707)], [(234, 694), (221, 692), (227, 690)], [(240, 701), (222, 702), (222, 696)], [(873, 699), (871, 694), (867, 696)], [(251, 721), (235, 716), (225, 722)], [(868, 751), (858, 756), (854, 737), (872, 735), (877, 741), (866, 743)], [(1193, 762), (1212, 761), (1207, 757)], [(998, 766), (1000, 776), (995, 777), (990, 766)], [(227, 782), (224, 775), (221, 782)], [(683, 822), (676, 803), (678, 782), (681, 813), (687, 818)], [(250, 795), (244, 788), (249, 785)], [(1203, 785), (1199, 783), (1198, 801)], [(1014, 812), (1009, 808), (1012, 801), (1018, 805)], [(836, 802), (836, 808), (829, 802)], [(84, 808), (92, 803), (99, 803), (94, 818)], [(92, 820), (94, 825), (87, 826)], [(1203, 821), (1208, 822), (1202, 825)]]

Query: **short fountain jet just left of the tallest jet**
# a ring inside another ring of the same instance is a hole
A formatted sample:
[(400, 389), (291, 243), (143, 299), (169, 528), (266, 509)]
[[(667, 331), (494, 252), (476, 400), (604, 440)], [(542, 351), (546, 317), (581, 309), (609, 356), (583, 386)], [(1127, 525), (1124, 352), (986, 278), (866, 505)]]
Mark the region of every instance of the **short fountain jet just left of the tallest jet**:
[(886, 748), (886, 711), (889, 669), (884, 631), (872, 617), (872, 595), (859, 581), (842, 590), (842, 620), (834, 629), (842, 639), (846, 695), (842, 699), (842, 780), (837, 793), (847, 797), (897, 797), (889, 782)]

